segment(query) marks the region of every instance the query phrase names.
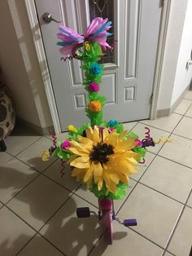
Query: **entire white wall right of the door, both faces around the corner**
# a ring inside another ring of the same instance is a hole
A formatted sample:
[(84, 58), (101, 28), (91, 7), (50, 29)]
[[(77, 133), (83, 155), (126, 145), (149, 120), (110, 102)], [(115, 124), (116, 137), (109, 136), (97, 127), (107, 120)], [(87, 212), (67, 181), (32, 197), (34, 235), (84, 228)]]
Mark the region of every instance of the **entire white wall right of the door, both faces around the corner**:
[(192, 49), (192, 0), (172, 1), (159, 86), (158, 110), (172, 105), (190, 85), (192, 67), (185, 70)]

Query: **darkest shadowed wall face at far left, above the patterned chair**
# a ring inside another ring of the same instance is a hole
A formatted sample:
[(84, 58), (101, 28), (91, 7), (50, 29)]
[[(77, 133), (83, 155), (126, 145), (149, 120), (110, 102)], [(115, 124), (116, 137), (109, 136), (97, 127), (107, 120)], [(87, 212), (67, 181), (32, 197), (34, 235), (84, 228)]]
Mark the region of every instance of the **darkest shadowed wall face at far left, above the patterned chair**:
[(11, 91), (16, 113), (38, 126), (40, 121), (7, 1), (0, 1), (0, 31), (0, 65), (2, 75)]

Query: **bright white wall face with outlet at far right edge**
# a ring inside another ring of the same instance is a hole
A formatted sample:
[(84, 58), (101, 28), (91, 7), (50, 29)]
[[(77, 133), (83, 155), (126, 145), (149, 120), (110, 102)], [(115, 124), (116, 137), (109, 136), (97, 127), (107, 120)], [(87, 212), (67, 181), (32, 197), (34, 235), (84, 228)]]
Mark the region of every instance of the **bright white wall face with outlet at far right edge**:
[(186, 62), (190, 59), (192, 51), (192, 0), (188, 1), (187, 10), (185, 14), (185, 23), (181, 38), (181, 46), (177, 61), (176, 77), (172, 91), (172, 104), (176, 102), (182, 92), (190, 85), (192, 78), (192, 66), (186, 70)]

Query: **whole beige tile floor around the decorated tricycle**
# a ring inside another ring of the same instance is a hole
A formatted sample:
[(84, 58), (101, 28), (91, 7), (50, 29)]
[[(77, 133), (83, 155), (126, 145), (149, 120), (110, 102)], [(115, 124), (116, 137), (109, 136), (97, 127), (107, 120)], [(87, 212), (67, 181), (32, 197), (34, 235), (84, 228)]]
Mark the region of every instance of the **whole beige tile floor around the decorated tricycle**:
[[(107, 246), (98, 219), (76, 218), (77, 206), (97, 211), (96, 198), (60, 162), (42, 162), (50, 137), (13, 133), (0, 152), (0, 255), (188, 256), (192, 245), (192, 92), (170, 117), (125, 124), (144, 136), (172, 143), (149, 148), (146, 164), (130, 179), (132, 188), (116, 201), (120, 219), (137, 218), (137, 227), (114, 221), (114, 243)], [(64, 136), (64, 135), (63, 135)]]

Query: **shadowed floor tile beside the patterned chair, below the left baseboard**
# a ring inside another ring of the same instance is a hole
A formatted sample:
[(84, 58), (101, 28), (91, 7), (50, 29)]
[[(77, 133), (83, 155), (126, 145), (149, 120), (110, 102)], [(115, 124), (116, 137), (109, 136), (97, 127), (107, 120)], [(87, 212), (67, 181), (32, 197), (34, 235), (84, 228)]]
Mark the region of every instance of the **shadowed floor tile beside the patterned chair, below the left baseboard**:
[(7, 145), (7, 152), (11, 155), (16, 156), (25, 148), (28, 148), (32, 143), (37, 141), (40, 136), (17, 136), (11, 135), (5, 140)]

